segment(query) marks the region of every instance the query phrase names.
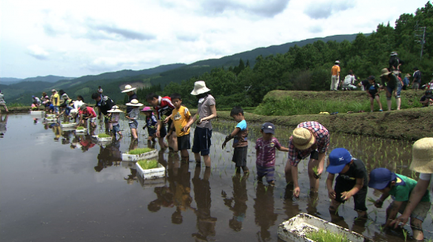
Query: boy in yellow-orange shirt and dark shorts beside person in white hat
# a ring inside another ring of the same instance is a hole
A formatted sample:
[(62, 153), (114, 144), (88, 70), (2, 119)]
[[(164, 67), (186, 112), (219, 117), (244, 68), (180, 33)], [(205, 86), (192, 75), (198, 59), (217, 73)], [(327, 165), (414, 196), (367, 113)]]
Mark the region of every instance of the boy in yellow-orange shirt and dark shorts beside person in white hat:
[(176, 130), (177, 135), (177, 150), (181, 151), (182, 160), (188, 162), (190, 160), (190, 154), (188, 153), (188, 149), (191, 148), (190, 143), (190, 129), (184, 130), (184, 126), (188, 124), (191, 118), (190, 111), (182, 106), (182, 99), (180, 94), (172, 94), (170, 96), (171, 102), (175, 109), (173, 109), (170, 128), (168, 129), (168, 133)]

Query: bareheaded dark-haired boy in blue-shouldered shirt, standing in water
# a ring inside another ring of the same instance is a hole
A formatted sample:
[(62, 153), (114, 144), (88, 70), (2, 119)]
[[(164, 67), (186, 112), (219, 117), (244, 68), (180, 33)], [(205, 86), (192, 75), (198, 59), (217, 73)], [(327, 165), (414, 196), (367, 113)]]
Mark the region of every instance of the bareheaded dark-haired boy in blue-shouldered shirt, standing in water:
[(223, 143), (223, 148), (225, 144), (229, 142), (229, 140), (233, 140), (233, 159), (232, 162), (236, 163), (236, 173), (241, 173), (241, 168), (243, 173), (249, 173), (247, 167), (247, 152), (248, 152), (248, 127), (247, 121), (245, 121), (245, 117), (243, 116), (243, 109), (239, 106), (235, 106), (230, 112), (230, 116), (234, 118), (238, 125), (234, 128), (234, 131), (225, 137), (225, 141)]

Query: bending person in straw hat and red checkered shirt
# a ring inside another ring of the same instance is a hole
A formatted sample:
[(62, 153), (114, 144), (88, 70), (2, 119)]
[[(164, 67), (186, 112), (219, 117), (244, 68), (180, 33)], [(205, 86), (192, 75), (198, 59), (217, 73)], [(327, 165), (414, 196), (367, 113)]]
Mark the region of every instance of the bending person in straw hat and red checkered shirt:
[[(309, 121), (298, 124), (289, 139), (289, 157), (285, 166), (286, 181), (293, 181), (293, 195), (299, 197), (298, 164), (310, 156), (308, 176), (311, 192), (318, 192), (319, 178), (323, 172), (324, 159), (329, 146), (329, 131), (322, 124)], [(313, 171), (318, 168), (318, 172)]]

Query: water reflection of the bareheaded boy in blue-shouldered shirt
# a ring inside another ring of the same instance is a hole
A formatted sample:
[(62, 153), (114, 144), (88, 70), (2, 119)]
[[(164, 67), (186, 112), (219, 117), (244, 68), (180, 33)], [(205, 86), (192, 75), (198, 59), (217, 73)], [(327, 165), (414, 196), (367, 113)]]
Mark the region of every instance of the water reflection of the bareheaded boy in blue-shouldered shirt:
[[(233, 181), (233, 197), (227, 198), (227, 195), (223, 191), (224, 204), (229, 207), (230, 210), (233, 211), (233, 217), (229, 220), (229, 227), (234, 231), (242, 230), (242, 222), (245, 219), (247, 214), (247, 179), (249, 173), (246, 175), (241, 175), (240, 173), (236, 173), (232, 177)], [(232, 202), (234, 204), (232, 206)]]

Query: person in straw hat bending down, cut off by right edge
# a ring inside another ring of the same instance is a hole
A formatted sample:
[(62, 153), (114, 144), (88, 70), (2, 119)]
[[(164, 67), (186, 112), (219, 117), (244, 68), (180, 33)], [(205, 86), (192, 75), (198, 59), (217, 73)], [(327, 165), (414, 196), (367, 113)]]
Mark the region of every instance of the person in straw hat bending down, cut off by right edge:
[[(430, 184), (430, 202), (433, 201), (433, 137), (424, 137), (421, 140), (414, 142), (412, 146), (412, 163), (409, 166), (410, 170), (414, 170), (419, 173), (419, 179), (417, 186), (410, 192), (408, 205), (404, 209), (404, 212), (390, 225), (395, 225), (397, 228), (399, 225), (408, 223), (409, 218), (414, 217), (413, 212), (417, 208), (419, 202), (425, 194), (425, 190), (428, 189)], [(431, 205), (430, 205), (431, 206)], [(411, 221), (412, 225), (412, 221)], [(421, 225), (414, 225), (417, 228), (421, 228)], [(423, 236), (417, 238), (421, 240)]]

